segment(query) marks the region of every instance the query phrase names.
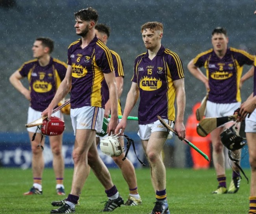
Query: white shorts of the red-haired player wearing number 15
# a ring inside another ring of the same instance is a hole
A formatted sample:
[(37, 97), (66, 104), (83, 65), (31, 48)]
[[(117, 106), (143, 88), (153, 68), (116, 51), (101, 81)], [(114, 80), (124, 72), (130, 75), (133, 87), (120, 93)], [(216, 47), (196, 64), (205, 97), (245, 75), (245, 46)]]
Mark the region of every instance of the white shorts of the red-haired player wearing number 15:
[[(169, 121), (167, 119), (164, 119), (164, 121), (173, 128), (173, 121)], [(147, 141), (152, 132), (169, 132), (167, 139), (171, 139), (173, 137), (173, 132), (167, 130), (167, 128), (165, 128), (159, 120), (155, 121), (154, 123), (139, 125), (138, 135), (141, 140)]]

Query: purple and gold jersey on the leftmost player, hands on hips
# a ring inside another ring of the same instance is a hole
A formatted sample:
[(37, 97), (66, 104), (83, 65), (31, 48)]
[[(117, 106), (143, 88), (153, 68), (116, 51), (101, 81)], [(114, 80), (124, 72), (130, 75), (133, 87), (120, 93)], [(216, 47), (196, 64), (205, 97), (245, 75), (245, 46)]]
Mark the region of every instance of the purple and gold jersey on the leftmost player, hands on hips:
[(43, 112), (48, 107), (66, 71), (67, 64), (54, 58), (50, 58), (50, 63), (44, 67), (34, 59), (19, 68), (20, 75), (28, 78), (31, 108)]

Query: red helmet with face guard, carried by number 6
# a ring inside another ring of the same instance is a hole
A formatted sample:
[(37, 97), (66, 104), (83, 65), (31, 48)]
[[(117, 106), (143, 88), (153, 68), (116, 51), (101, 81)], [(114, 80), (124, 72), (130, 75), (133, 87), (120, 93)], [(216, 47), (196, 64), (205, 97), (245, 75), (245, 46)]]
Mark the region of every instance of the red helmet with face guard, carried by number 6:
[(51, 116), (50, 120), (47, 118), (43, 120), (41, 132), (44, 135), (61, 135), (65, 129), (65, 123), (59, 117)]

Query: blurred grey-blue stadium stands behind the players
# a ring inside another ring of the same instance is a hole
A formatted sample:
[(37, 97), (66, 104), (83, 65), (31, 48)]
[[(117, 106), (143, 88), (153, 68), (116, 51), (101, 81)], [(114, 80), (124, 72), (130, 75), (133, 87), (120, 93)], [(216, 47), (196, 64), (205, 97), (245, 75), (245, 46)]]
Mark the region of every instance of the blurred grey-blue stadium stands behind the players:
[[(9, 76), (23, 62), (32, 59), (31, 48), (36, 37), (52, 38), (55, 41), (52, 56), (66, 61), (67, 47), (78, 38), (74, 30), (74, 12), (79, 9), (94, 7), (99, 13), (99, 23), (105, 23), (111, 27), (108, 47), (117, 51), (124, 62), (122, 106), (125, 104), (130, 88), (134, 59), (140, 53), (145, 52), (140, 26), (147, 21), (163, 22), (162, 44), (176, 52), (184, 66), (187, 97), (184, 122), (191, 113), (192, 106), (200, 101), (206, 92), (204, 85), (192, 77), (186, 66), (195, 55), (211, 48), (211, 31), (215, 27), (223, 26), (227, 29), (229, 46), (245, 49), (251, 54), (256, 52), (255, 17), (252, 15), (255, 9), (253, 0), (94, 0), (83, 2), (78, 0), (17, 0), (13, 7), (4, 7), (6, 2), (15, 1), (0, 1), (0, 161), (2, 163), (6, 159), (10, 159), (10, 163), (15, 163), (15, 161), (24, 163), (24, 151), (27, 151), (29, 155), (30, 147), (24, 127), (29, 103), (10, 85)], [(245, 66), (244, 72), (248, 69), (249, 66)], [(26, 85), (26, 80), (23, 83)], [(243, 86), (241, 91), (243, 101), (251, 91), (252, 79)], [(137, 116), (136, 107), (132, 116)], [(63, 144), (68, 146), (73, 141), (69, 116), (65, 116), (65, 121), (65, 134), (67, 135)], [(136, 122), (131, 121), (126, 130), (138, 141)], [(186, 145), (176, 141), (173, 144), (176, 145), (175, 166), (186, 166)], [(18, 147), (20, 149), (17, 150)], [(23, 156), (19, 156), (20, 153)], [(50, 151), (47, 154), (50, 154)], [(136, 159), (134, 161), (137, 162)]]

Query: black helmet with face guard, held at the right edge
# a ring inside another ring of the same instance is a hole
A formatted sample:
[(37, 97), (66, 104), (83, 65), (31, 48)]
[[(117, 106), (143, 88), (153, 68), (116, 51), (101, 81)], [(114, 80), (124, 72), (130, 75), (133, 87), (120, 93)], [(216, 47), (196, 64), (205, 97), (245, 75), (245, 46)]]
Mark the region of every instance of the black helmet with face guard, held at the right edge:
[(230, 128), (225, 129), (220, 135), (223, 145), (231, 151), (241, 149), (247, 144), (244, 141), (245, 138), (238, 134), (235, 125), (236, 124), (230, 126)]

